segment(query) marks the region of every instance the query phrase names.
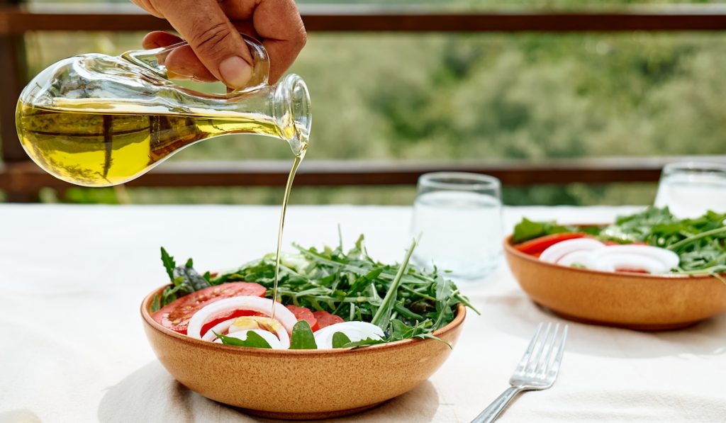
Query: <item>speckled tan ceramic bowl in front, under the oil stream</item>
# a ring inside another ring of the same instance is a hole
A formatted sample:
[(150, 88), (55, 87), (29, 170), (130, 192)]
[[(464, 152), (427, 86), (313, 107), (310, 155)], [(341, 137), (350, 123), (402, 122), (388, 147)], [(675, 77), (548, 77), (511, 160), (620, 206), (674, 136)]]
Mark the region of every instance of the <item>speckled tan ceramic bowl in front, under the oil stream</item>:
[[(451, 353), (436, 340), (404, 340), (357, 350), (263, 350), (218, 345), (172, 332), (150, 316), (155, 289), (141, 305), (144, 331), (161, 364), (182, 385), (214, 401), (277, 419), (353, 414), (406, 393)], [(454, 345), (466, 316), (435, 332)]]

